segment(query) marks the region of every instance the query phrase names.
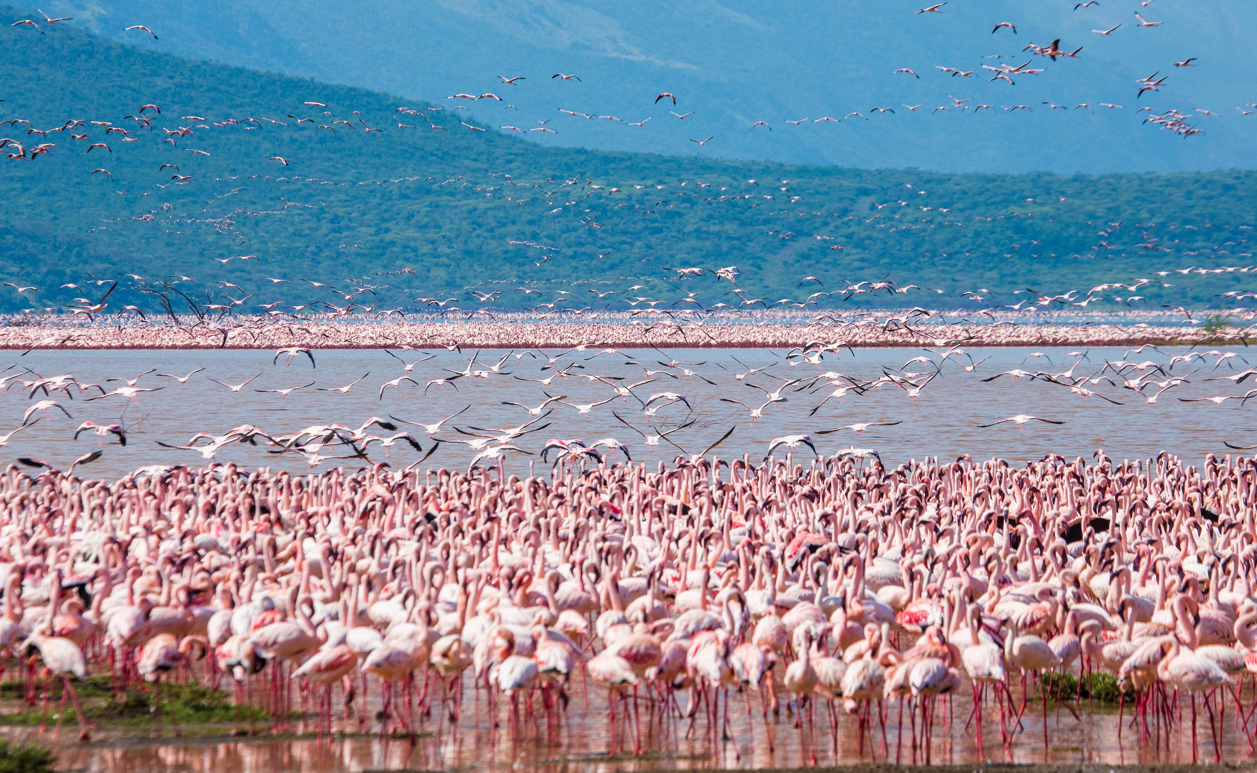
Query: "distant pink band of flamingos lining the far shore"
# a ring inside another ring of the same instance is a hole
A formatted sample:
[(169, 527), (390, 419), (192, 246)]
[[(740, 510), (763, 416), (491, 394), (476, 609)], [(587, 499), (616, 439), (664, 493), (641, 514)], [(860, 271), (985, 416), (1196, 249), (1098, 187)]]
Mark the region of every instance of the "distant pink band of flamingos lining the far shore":
[[(510, 315), (502, 315), (508, 317)], [(936, 316), (936, 315), (935, 315)], [(1051, 319), (1051, 317), (1048, 317)], [(3, 320), (0, 320), (3, 321)], [(406, 320), (351, 316), (336, 320), (250, 317), (145, 323), (132, 316), (94, 323), (62, 319), (9, 320), (0, 326), (4, 349), (278, 349), (310, 346), (361, 349), (455, 345), (474, 349), (566, 349), (603, 346), (789, 348), (835, 335), (852, 346), (928, 346), (964, 341), (972, 346), (1139, 346), (1164, 343), (1242, 341), (1246, 330), (1203, 330), (1180, 324), (1080, 325), (1067, 321), (969, 324), (929, 321), (911, 311), (826, 317), (788, 323), (773, 315), (743, 315), (733, 323), (701, 320), (553, 321), (553, 320)], [(984, 320), (985, 321), (985, 320)], [(1179, 320), (1182, 321), (1182, 320)]]

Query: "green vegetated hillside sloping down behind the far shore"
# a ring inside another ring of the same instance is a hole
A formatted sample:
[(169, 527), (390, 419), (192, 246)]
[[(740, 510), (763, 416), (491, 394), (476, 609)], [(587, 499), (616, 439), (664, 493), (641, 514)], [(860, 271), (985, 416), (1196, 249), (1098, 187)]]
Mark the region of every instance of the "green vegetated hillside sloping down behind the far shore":
[[(686, 266), (737, 266), (738, 286), (768, 302), (887, 275), (921, 291), (880, 295), (877, 305), (955, 306), (965, 290), (987, 290), (983, 305), (1016, 304), (1026, 286), (1077, 290), (1081, 300), (1101, 282), (1138, 277), (1154, 281), (1112, 289), (1104, 304), (1120, 294), (1144, 296), (1135, 307), (1216, 306), (1221, 292), (1257, 290), (1238, 270), (1154, 274), (1257, 264), (1247, 241), (1253, 172), (940, 174), (543, 148), (478, 120), (464, 99), (405, 102), (65, 25), (43, 35), (3, 26), (0, 46), (0, 118), (29, 122), (0, 127), (26, 156), (0, 158), (0, 279), (36, 287), (6, 287), (0, 310), (94, 301), (88, 274), (123, 280), (111, 311), (152, 307), (126, 274), (231, 282), (240, 290), (228, 295), (254, 294), (241, 311), (280, 299), (343, 305), (299, 280), (353, 277), (377, 289), (381, 309), (461, 301), (489, 282), (504, 291), (497, 304), (532, 305), (538, 296), (514, 287), (577, 280), (617, 281), (607, 287), (617, 295), (596, 307), (626, 297), (631, 284), (646, 285), (632, 295), (671, 301), (684, 294), (669, 269)], [(161, 113), (141, 112), (146, 104)], [(84, 123), (54, 131), (72, 119)], [(54, 147), (29, 158), (39, 143)], [(108, 148), (88, 152), (93, 143)], [(821, 284), (799, 287), (806, 276)], [(722, 296), (729, 289), (708, 284), (699, 297), (735, 302)], [(541, 300), (552, 300), (548, 289)]]

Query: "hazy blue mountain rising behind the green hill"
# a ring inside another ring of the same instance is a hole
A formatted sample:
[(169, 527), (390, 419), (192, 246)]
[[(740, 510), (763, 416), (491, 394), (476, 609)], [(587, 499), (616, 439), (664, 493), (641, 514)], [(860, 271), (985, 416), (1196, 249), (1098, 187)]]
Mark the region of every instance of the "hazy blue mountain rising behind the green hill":
[[(1102, 0), (950, 0), (915, 14), (924, 0), (45, 0), (98, 34), (143, 46), (249, 68), (363, 85), (414, 99), (494, 93), (476, 103), (498, 125), (547, 125), (534, 142), (822, 163), (987, 172), (1169, 172), (1252, 168), (1257, 59), (1242, 55), (1257, 33), (1249, 3)], [(1138, 26), (1135, 13), (1155, 28)], [(999, 21), (1017, 25), (1017, 34)], [(1092, 29), (1121, 24), (1112, 35)], [(155, 30), (153, 40), (132, 24)], [(1028, 43), (1084, 46), (1052, 61), (1021, 53)], [(994, 58), (994, 56), (1002, 58)], [(1195, 67), (1174, 61), (1195, 56)], [(991, 83), (983, 64), (1042, 68)], [(972, 70), (969, 78), (935, 69)], [(920, 78), (894, 74), (911, 68)], [(581, 80), (552, 79), (556, 72)], [(1136, 79), (1168, 75), (1136, 99)], [(503, 85), (497, 75), (524, 75)], [(678, 97), (672, 108), (660, 92)], [(949, 95), (991, 104), (954, 109)], [(1043, 102), (1063, 104), (1052, 109)], [(445, 104), (454, 107), (456, 102)], [(1100, 108), (1099, 103), (1124, 105)], [(1075, 109), (1089, 103), (1094, 109)], [(514, 108), (507, 108), (512, 104)], [(923, 105), (916, 112), (904, 104)], [(1004, 110), (1024, 104), (1027, 110)], [(1183, 139), (1148, 113), (1204, 108), (1203, 129)], [(889, 107), (891, 113), (871, 113)], [(573, 118), (559, 109), (610, 119)], [(694, 114), (678, 120), (669, 114)], [(1246, 110), (1252, 109), (1244, 107)], [(813, 123), (860, 112), (867, 120)], [(645, 127), (628, 127), (647, 117)], [(784, 120), (807, 117), (801, 125)], [(757, 120), (764, 127), (750, 129)], [(690, 139), (714, 136), (699, 147)]]

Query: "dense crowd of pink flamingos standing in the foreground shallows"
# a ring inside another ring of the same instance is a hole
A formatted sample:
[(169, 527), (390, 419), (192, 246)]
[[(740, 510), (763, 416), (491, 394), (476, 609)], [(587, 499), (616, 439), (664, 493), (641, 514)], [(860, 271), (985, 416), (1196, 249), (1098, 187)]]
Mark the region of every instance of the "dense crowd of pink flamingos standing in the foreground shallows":
[[(116, 690), (214, 675), (277, 729), (317, 712), (319, 738), (412, 737), (469, 695), (502, 733), (553, 734), (591, 710), (569, 703), (581, 680), (607, 690), (612, 752), (646, 750), (642, 722), (753, 744), (730, 738), (745, 712), (750, 728), (784, 713), (812, 762), (840, 723), (862, 757), (929, 760), (941, 720), (975, 725), (979, 757), (1007, 750), (1040, 676), (1109, 673), (1134, 695), (1119, 733), (1160, 748), (1189, 722), (1195, 759), (1208, 717), (1217, 759), (1228, 710), (1252, 743), (1254, 488), (1253, 458), (1102, 452), (568, 458), (523, 478), (500, 461), (113, 483), (10, 466), (0, 645), (28, 700), (44, 680), (44, 710), (62, 683), (83, 739), (88, 673)], [(979, 706), (967, 720), (958, 693)]]

